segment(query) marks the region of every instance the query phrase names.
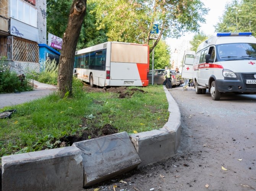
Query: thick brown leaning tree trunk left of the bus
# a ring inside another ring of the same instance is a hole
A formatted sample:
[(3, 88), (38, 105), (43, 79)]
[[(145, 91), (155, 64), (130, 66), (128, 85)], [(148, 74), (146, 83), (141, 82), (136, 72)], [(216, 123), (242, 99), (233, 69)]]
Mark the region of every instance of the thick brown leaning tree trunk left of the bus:
[(68, 26), (63, 36), (62, 51), (58, 66), (58, 92), (62, 97), (69, 91), (72, 94), (72, 78), (76, 45), (86, 13), (87, 0), (73, 0)]

